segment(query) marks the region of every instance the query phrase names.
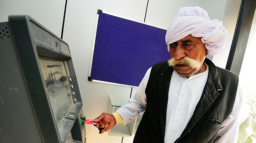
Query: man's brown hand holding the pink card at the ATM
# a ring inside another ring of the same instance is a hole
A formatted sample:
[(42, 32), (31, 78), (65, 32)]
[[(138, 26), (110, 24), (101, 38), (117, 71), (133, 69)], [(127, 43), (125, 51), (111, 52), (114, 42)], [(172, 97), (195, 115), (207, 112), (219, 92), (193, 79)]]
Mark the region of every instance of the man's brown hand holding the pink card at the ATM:
[(94, 122), (97, 123), (97, 125), (94, 126), (100, 130), (100, 134), (103, 134), (105, 131), (109, 131), (116, 125), (115, 117), (108, 113), (102, 113), (100, 116), (94, 119)]

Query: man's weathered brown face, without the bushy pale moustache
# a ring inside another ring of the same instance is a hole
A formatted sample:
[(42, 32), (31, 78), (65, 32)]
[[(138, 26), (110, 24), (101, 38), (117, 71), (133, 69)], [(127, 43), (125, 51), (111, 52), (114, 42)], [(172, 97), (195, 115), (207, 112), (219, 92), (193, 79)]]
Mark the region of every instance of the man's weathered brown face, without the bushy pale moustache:
[(201, 41), (201, 38), (188, 35), (183, 39), (180, 39), (169, 45), (171, 58), (175, 60), (184, 59), (189, 57), (199, 63), (199, 66), (192, 68), (187, 63), (178, 62), (178, 64), (172, 65), (173, 69), (183, 77), (190, 77), (191, 75), (201, 73), (206, 70), (203, 61), (208, 56), (206, 47)]

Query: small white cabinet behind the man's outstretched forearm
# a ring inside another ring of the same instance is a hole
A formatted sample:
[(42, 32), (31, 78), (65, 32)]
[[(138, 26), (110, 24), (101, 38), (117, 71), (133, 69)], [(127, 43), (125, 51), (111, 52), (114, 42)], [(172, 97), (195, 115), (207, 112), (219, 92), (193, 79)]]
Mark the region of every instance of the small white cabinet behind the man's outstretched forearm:
[[(109, 95), (109, 110), (108, 113), (114, 113), (119, 107), (128, 103), (130, 98), (112, 96)], [(118, 124), (114, 128), (108, 131), (110, 136), (122, 136), (122, 137), (131, 137), (135, 134), (137, 127), (140, 123), (142, 115), (137, 116), (131, 122), (126, 125)]]

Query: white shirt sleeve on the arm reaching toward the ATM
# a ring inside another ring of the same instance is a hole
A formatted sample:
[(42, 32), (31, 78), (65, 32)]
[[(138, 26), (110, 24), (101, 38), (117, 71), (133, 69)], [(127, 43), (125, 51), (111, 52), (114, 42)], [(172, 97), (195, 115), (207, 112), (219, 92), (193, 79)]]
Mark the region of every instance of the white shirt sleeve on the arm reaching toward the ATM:
[(150, 71), (151, 68), (147, 70), (144, 78), (141, 80), (140, 85), (138, 86), (137, 92), (131, 96), (129, 102), (116, 110), (116, 112), (119, 113), (124, 120), (124, 122), (122, 122), (123, 125), (140, 115), (140, 113), (142, 113), (147, 107), (145, 89), (150, 76)]

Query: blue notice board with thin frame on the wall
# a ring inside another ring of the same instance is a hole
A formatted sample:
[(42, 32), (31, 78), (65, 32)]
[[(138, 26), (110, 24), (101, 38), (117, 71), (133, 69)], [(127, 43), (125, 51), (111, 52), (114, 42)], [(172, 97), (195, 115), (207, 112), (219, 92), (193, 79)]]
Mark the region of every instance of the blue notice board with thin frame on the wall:
[(88, 80), (139, 86), (147, 69), (170, 59), (166, 30), (98, 12)]

